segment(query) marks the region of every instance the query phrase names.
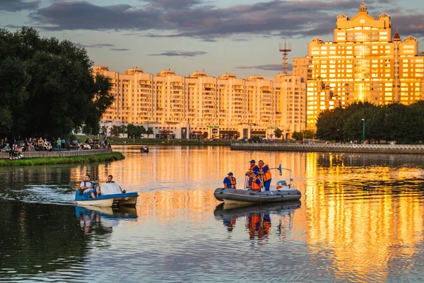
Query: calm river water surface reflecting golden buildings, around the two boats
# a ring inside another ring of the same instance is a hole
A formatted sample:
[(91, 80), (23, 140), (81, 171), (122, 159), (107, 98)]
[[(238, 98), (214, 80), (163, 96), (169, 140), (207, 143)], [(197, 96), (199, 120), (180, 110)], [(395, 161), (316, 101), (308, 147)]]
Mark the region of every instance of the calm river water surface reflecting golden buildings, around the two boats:
[[(0, 169), (0, 281), (424, 280), (424, 156), (114, 149), (126, 159)], [(243, 183), (252, 158), (293, 168), (300, 202), (217, 202), (213, 190), (230, 171)], [(75, 207), (86, 173), (114, 175), (139, 204)]]

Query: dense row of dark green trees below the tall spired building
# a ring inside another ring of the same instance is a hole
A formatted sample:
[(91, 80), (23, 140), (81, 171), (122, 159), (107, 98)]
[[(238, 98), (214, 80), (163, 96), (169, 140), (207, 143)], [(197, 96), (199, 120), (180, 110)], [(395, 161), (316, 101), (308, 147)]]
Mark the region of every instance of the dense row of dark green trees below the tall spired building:
[(326, 141), (418, 143), (424, 139), (424, 101), (411, 105), (378, 106), (353, 103), (346, 108), (325, 110), (317, 119), (318, 139)]

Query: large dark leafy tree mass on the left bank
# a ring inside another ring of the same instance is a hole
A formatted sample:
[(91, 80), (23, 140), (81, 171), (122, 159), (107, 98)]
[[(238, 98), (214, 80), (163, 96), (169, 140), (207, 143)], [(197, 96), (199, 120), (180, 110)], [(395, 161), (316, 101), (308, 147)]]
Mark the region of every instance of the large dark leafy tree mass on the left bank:
[(114, 98), (110, 80), (93, 77), (92, 66), (69, 40), (0, 29), (0, 136), (58, 136), (77, 127), (98, 133)]

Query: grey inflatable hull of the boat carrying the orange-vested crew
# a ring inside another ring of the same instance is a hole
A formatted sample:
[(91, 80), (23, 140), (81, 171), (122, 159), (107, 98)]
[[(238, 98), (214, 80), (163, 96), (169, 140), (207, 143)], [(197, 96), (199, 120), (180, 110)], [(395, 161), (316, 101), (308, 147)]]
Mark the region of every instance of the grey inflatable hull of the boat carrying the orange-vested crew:
[(237, 190), (218, 188), (213, 192), (216, 200), (225, 204), (252, 204), (288, 202), (300, 200), (302, 196), (299, 190), (271, 190), (268, 192), (254, 192), (253, 190)]

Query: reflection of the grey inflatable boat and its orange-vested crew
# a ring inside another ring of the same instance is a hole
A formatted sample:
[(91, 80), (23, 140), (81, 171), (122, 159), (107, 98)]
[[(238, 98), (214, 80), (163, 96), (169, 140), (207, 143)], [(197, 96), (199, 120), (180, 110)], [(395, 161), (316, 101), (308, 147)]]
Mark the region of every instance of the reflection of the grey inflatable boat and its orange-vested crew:
[[(231, 233), (237, 221), (245, 221), (245, 230), (250, 240), (266, 240), (271, 234), (271, 214), (275, 214), (277, 223), (276, 235), (284, 239), (285, 234), (293, 226), (295, 209), (300, 208), (301, 202), (285, 202), (280, 204), (262, 204), (254, 206), (235, 206), (218, 204), (213, 214), (218, 221), (222, 221), (228, 233)], [(274, 220), (276, 221), (276, 220)], [(241, 224), (242, 225), (242, 224)], [(274, 224), (275, 225), (275, 224)]]

